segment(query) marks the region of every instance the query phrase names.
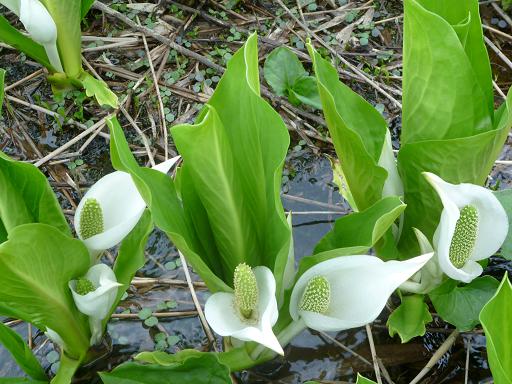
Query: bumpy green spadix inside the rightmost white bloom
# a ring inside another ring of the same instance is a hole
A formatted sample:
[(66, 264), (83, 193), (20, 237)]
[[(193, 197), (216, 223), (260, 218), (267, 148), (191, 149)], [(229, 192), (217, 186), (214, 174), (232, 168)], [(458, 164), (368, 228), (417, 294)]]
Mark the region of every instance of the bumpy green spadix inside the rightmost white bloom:
[(450, 261), (455, 268), (462, 268), (466, 264), (475, 248), (477, 236), (478, 211), (474, 206), (466, 205), (460, 211), (450, 244)]

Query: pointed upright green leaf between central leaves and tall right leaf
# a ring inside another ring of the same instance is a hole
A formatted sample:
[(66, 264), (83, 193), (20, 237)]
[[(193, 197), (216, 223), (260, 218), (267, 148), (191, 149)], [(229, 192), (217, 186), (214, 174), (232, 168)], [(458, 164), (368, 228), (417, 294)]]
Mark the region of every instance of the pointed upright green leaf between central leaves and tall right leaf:
[(308, 44), (329, 133), (357, 210), (379, 201), (387, 171), (378, 165), (387, 126), (380, 113), (338, 80), (338, 72)]

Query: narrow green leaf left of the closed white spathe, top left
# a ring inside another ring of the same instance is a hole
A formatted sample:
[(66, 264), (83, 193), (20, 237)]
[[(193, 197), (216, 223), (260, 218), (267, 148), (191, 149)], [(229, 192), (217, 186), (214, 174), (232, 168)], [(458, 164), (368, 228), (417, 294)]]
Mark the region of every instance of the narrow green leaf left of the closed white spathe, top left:
[(39, 64), (48, 68), (51, 72), (55, 71), (50, 64), (50, 60), (43, 46), (14, 28), (2, 15), (0, 15), (0, 41), (23, 52)]

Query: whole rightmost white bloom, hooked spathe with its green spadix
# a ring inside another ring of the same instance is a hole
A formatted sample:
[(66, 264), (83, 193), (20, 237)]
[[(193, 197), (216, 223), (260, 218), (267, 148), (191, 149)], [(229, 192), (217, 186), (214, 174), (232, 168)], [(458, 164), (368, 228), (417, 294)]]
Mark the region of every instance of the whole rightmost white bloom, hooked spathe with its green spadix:
[(441, 270), (469, 283), (482, 273), (477, 262), (495, 254), (507, 237), (508, 217), (494, 194), (474, 184), (450, 184), (423, 175), (437, 192), (443, 210), (433, 239)]

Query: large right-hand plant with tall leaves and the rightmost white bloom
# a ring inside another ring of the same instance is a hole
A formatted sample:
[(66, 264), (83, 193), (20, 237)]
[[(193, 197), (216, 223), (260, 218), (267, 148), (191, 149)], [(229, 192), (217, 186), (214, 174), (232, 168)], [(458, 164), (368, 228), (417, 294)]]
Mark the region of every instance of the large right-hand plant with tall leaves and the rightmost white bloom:
[[(478, 324), (483, 299), (497, 285), (493, 278), (477, 278), (483, 270), (478, 261), (498, 251), (509, 230), (503, 207), (482, 185), (512, 126), (512, 92), (494, 110), (478, 1), (405, 0), (404, 7), (403, 114), (396, 162), (380, 113), (342, 84), (336, 69), (308, 44), (340, 160), (340, 191), (360, 212), (338, 219), (315, 255), (299, 266), (300, 274), (357, 241), (367, 249), (373, 246), (385, 260), (407, 259), (420, 249), (435, 251), (401, 286), (419, 294), (402, 296), (390, 324), (402, 340), (423, 334), (423, 322), (431, 319), (422, 294), (428, 293), (437, 312), (460, 329)], [(393, 208), (386, 196), (401, 197), (406, 206)], [(398, 210), (398, 216), (393, 214)], [(350, 229), (363, 217), (374, 223), (372, 233)], [(390, 219), (394, 223), (382, 235), (387, 226), (381, 224)], [(373, 236), (376, 229), (382, 237)], [(475, 303), (471, 313), (453, 316), (453, 307), (468, 301)], [(421, 323), (413, 334), (407, 331), (411, 319)]]

